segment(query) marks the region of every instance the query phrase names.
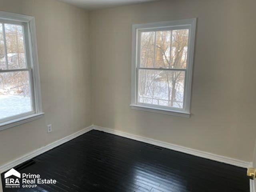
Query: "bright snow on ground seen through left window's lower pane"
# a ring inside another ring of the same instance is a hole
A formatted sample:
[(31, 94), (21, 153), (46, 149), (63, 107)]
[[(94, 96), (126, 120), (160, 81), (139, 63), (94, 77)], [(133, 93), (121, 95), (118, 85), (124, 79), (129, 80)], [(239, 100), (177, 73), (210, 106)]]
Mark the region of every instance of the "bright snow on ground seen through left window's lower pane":
[(30, 112), (31, 110), (29, 97), (0, 94), (0, 119)]

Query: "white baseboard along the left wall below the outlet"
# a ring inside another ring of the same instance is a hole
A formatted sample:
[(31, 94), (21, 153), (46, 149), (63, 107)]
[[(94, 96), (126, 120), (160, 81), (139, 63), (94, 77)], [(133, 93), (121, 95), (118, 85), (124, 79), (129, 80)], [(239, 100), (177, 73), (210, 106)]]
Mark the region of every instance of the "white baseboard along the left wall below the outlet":
[(48, 144), (46, 146), (43, 146), (43, 147), (41, 147), (41, 148), (39, 148), (37, 150), (34, 150), (34, 151), (30, 152), (30, 153), (27, 153), (24, 156), (21, 156), (20, 158), (17, 158), (17, 159), (15, 159), (13, 161), (10, 161), (7, 164), (4, 164), (4, 165), (0, 166), (0, 174), (5, 172), (5, 171), (7, 171), (7, 170), (9, 170), (9, 169), (11, 169), (11, 168), (13, 168), (13, 167), (15, 167), (15, 166), (17, 166), (17, 165), (19, 165), (19, 164), (21, 164), (21, 163), (23, 163), (23, 162), (26, 162), (26, 161), (34, 158), (34, 157), (36, 157), (36, 156), (38, 156), (38, 155), (40, 155), (40, 154), (42, 154), (42, 153), (44, 153), (44, 152), (46, 152), (48, 150), (51, 150), (51, 149), (53, 149), (53, 148), (55, 148), (55, 147), (57, 147), (57, 146), (59, 146), (61, 144), (64, 144), (64, 143), (66, 143), (66, 142), (68, 142), (68, 141), (70, 141), (70, 140), (72, 140), (72, 139), (74, 139), (74, 138), (76, 138), (76, 137), (78, 137), (78, 136), (80, 136), (80, 135), (82, 135), (82, 134), (92, 130), (92, 129), (93, 129), (93, 126), (91, 125), (91, 126), (89, 126), (87, 128), (84, 128), (84, 129), (76, 132), (76, 133), (73, 133), (73, 134), (71, 134), (69, 136), (66, 136), (66, 137), (60, 139), (60, 140), (57, 140), (57, 141), (52, 142), (52, 143), (50, 143), (50, 144)]

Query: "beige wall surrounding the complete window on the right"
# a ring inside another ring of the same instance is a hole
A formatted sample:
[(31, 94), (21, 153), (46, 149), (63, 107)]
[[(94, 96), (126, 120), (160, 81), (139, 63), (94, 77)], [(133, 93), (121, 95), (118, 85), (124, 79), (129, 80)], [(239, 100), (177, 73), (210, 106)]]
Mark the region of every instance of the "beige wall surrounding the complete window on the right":
[[(168, 0), (91, 12), (93, 123), (251, 162), (255, 7), (255, 0)], [(195, 17), (191, 117), (132, 110), (132, 24)]]

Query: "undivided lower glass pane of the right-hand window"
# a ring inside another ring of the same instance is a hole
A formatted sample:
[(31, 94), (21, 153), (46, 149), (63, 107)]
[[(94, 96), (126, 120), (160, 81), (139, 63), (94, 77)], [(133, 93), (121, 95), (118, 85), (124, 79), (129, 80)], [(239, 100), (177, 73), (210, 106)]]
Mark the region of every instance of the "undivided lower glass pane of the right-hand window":
[(140, 69), (138, 102), (183, 108), (184, 77), (184, 71)]

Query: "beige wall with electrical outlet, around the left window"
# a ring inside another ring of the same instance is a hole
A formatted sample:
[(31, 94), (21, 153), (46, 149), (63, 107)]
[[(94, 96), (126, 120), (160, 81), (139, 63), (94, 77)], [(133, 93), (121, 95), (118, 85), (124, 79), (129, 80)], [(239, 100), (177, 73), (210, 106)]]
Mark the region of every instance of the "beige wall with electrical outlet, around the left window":
[[(92, 124), (88, 12), (55, 0), (0, 0), (36, 18), (45, 116), (0, 131), (0, 166)], [(46, 125), (53, 131), (46, 133)]]

